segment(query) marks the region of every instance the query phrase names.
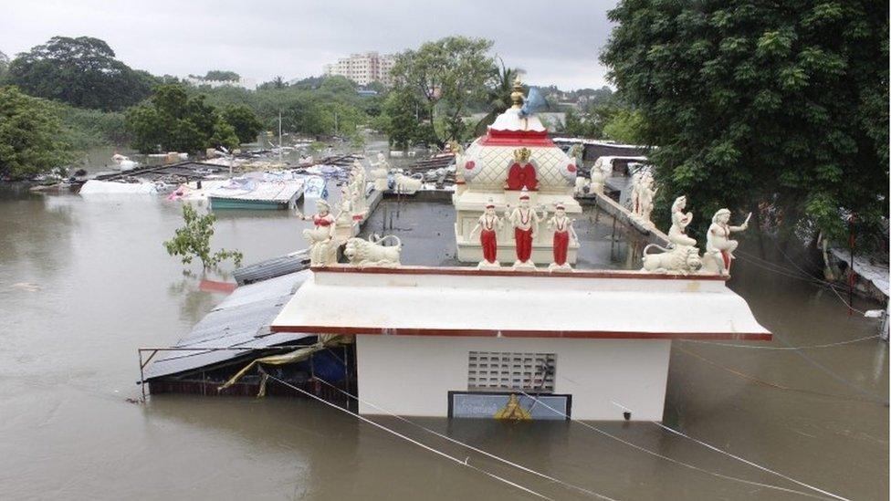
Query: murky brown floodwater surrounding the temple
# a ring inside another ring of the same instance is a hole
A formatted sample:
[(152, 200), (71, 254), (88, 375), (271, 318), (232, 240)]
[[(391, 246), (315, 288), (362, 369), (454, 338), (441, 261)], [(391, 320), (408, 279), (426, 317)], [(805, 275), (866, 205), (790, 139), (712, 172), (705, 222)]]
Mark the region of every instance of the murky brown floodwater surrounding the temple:
[[(200, 290), (197, 268), (183, 274), (162, 248), (180, 210), (162, 197), (0, 187), (0, 499), (534, 498), (319, 402), (131, 402), (140, 395), (136, 348), (169, 345), (223, 298)], [(447, 232), (451, 209), (433, 212)], [(303, 227), (284, 212), (221, 214), (213, 245), (251, 263), (302, 247)], [(409, 243), (410, 230), (400, 230)], [(632, 266), (629, 246), (612, 238), (609, 224), (585, 232), (599, 256), (589, 261)], [(774, 332), (753, 346), (877, 332), (828, 290), (741, 259), (734, 266), (730, 287)], [(671, 357), (667, 426), (827, 493), (887, 498), (885, 342), (760, 350), (678, 341)], [(375, 420), (543, 496), (592, 497), (407, 423)], [(828, 497), (654, 423), (416, 423), (614, 499)]]

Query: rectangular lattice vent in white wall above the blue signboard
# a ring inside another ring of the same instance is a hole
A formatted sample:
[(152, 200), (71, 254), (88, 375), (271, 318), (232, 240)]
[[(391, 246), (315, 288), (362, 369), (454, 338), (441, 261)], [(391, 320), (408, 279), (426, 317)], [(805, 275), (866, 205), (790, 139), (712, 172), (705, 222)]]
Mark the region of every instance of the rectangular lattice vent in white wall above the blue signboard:
[(470, 351), (467, 391), (523, 390), (554, 392), (554, 353)]

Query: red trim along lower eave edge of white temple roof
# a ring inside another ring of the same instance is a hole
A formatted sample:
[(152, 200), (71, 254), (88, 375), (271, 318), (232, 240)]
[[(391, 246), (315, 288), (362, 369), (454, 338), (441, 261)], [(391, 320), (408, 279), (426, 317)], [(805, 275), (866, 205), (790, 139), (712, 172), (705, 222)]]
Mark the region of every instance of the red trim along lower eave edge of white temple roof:
[(456, 338), (548, 339), (708, 339), (770, 341), (770, 332), (633, 332), (608, 330), (493, 330), (493, 329), (384, 329), (377, 327), (272, 326), (273, 332), (323, 332), (325, 334), (383, 336), (451, 336)]

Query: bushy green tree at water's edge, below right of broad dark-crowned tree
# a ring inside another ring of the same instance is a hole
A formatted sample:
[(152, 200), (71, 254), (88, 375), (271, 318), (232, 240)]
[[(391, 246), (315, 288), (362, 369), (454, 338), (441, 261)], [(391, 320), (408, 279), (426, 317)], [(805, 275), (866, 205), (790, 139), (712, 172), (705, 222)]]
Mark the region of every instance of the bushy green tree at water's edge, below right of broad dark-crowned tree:
[(179, 84), (155, 87), (149, 102), (125, 113), (132, 147), (141, 152), (202, 151), (238, 145), (236, 130), (204, 96), (189, 97)]

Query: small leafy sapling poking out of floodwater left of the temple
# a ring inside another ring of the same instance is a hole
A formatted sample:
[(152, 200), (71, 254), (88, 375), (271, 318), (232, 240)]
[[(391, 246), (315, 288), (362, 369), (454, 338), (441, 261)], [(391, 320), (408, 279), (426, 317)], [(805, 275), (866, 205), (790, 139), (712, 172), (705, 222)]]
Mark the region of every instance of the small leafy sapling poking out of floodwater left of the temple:
[(173, 238), (163, 243), (167, 254), (181, 256), (183, 265), (192, 263), (197, 257), (204, 269), (216, 267), (226, 259), (232, 259), (236, 267), (241, 266), (244, 256), (238, 251), (220, 249), (211, 254), (210, 238), (214, 236), (216, 221), (213, 213), (200, 215), (192, 204), (183, 204), (183, 221), (185, 225), (177, 228)]

